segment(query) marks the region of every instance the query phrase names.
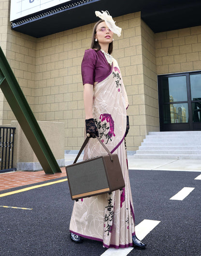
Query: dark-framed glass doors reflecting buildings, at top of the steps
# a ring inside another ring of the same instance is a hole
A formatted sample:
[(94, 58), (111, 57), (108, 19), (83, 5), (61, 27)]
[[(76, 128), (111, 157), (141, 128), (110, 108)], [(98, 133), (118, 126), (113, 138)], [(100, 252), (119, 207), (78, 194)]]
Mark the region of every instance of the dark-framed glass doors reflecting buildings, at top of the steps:
[(201, 130), (201, 73), (158, 76), (160, 131)]

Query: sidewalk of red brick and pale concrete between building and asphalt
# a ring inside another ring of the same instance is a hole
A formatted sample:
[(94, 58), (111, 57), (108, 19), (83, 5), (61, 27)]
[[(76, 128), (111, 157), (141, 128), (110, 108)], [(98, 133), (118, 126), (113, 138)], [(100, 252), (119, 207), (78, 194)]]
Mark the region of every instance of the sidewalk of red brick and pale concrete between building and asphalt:
[[(65, 166), (71, 165), (76, 154), (65, 154)], [(83, 155), (78, 159), (82, 161)], [(128, 155), (129, 170), (164, 170), (164, 171), (196, 171), (201, 172), (201, 160), (186, 159), (136, 159)], [(42, 181), (66, 177), (65, 167), (62, 173), (45, 174), (44, 171), (16, 171), (0, 174), (0, 190), (25, 186)]]

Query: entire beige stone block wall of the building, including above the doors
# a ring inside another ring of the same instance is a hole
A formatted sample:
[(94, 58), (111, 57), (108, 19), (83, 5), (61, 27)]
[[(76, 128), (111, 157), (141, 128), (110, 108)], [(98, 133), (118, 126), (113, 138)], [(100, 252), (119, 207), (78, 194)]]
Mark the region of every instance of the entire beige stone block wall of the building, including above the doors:
[[(64, 148), (77, 150), (84, 137), (81, 61), (94, 24), (33, 38), (11, 30), (9, 4), (0, 0), (0, 45), (37, 120), (65, 124)], [(201, 69), (201, 27), (154, 32), (140, 13), (115, 18), (118, 61), (129, 98), (128, 150), (137, 150), (149, 131), (159, 130), (157, 75)], [(0, 124), (15, 120), (0, 94)]]

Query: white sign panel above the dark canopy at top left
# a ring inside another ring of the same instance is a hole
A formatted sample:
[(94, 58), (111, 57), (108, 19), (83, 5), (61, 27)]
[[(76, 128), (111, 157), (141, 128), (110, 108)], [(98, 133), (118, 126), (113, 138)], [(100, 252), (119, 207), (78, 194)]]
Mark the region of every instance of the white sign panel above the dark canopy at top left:
[(69, 1), (71, 0), (11, 0), (10, 21)]

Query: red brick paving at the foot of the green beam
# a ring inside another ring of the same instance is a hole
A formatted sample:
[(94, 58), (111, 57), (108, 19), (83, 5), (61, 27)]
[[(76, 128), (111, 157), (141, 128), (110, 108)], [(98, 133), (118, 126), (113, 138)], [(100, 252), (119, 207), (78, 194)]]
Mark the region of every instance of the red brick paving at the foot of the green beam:
[(0, 173), (0, 190), (25, 186), (42, 181), (49, 181), (66, 176), (65, 167), (61, 168), (62, 173), (45, 174), (44, 171), (16, 171)]

